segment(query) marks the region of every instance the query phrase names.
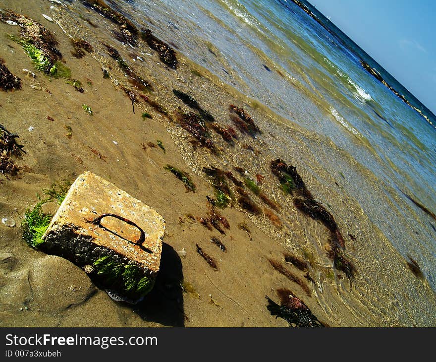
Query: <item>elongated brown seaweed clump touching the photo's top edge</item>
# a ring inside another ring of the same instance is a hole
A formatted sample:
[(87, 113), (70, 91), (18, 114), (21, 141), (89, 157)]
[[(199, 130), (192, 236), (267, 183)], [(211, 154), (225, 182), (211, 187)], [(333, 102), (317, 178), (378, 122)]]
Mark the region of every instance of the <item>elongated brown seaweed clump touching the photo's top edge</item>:
[(110, 6), (103, 0), (82, 0), (82, 3), (86, 7), (97, 11), (111, 22), (117, 24), (121, 35), (127, 43), (134, 47), (138, 45), (138, 28), (124, 15), (110, 8)]

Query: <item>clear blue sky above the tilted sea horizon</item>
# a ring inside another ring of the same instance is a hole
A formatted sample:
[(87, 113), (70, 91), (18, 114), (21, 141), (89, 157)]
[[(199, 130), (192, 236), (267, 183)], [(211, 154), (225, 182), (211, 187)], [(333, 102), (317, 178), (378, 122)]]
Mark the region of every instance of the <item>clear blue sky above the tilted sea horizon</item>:
[(436, 1), (309, 1), (436, 114)]

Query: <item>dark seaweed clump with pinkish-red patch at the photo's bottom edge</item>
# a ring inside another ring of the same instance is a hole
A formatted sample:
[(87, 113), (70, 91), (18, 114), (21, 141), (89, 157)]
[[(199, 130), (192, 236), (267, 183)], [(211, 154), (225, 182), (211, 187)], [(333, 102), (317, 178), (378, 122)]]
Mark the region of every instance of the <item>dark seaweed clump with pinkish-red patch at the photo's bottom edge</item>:
[(325, 327), (318, 318), (311, 312), (311, 310), (297, 298), (290, 290), (280, 288), (276, 290), (277, 296), (280, 299), (280, 304), (273, 302), (270, 298), (268, 300), (267, 309), (271, 315), (280, 317), (289, 323), (290, 327)]

